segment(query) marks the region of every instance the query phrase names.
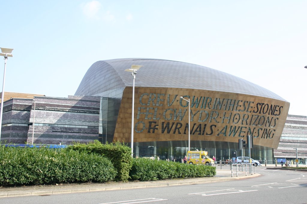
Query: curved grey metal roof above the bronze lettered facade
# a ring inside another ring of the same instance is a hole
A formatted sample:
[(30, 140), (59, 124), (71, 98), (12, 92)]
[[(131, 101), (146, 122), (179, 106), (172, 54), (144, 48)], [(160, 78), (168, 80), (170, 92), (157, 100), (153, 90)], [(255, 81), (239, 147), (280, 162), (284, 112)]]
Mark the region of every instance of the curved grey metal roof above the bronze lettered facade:
[(286, 101), (263, 87), (225, 72), (185, 62), (149, 58), (97, 61), (87, 70), (75, 95), (98, 96), (110, 90), (132, 86), (132, 76), (125, 71), (131, 65), (144, 65), (137, 71), (136, 87), (223, 91)]

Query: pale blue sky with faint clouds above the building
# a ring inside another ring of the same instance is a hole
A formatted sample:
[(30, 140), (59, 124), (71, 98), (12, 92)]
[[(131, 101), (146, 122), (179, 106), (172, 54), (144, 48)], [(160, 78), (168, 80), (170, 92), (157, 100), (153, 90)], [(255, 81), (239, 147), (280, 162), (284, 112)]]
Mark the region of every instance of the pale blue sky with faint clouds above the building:
[(0, 47), (14, 48), (5, 91), (68, 97), (96, 61), (158, 58), (239, 76), (307, 116), (306, 8), (306, 0), (0, 0)]

